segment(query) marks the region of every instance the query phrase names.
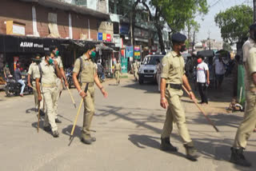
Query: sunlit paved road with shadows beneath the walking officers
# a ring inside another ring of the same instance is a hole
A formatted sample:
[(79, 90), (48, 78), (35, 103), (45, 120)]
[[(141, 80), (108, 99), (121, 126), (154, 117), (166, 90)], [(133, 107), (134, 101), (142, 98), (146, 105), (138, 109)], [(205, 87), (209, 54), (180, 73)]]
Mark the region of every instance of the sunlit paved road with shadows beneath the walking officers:
[[(228, 162), (230, 145), (242, 113), (226, 113), (228, 104), (214, 94), (204, 108), (216, 122), (220, 133), (207, 125), (206, 119), (188, 97), (182, 97), (191, 137), (202, 157), (197, 162), (185, 158), (185, 149), (176, 126), (171, 141), (178, 153), (159, 150), (160, 133), (165, 120), (165, 109), (159, 106), (156, 85), (138, 85), (131, 78), (122, 79), (119, 86), (106, 82), (107, 99), (96, 91), (96, 114), (92, 123), (97, 141), (84, 145), (79, 141), (82, 114), (78, 118), (74, 141), (69, 135), (76, 114), (67, 91), (59, 101), (59, 138), (41, 129), (37, 133), (37, 114), (33, 112), (33, 97), (3, 97), (0, 95), (0, 164), (1, 170), (255, 170), (244, 169)], [(75, 101), (80, 98), (72, 89)], [(220, 95), (221, 97), (221, 95)], [(215, 101), (218, 99), (218, 101)], [(246, 156), (256, 157), (255, 134), (250, 138)]]

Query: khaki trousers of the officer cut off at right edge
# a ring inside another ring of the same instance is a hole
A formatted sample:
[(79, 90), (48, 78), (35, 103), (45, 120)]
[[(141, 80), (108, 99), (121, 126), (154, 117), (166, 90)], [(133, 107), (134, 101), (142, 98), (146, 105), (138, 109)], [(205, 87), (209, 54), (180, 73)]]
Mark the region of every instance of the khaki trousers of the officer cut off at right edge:
[(234, 148), (246, 148), (250, 134), (254, 132), (256, 125), (256, 93), (246, 91), (246, 111), (243, 121), (239, 125), (235, 139)]

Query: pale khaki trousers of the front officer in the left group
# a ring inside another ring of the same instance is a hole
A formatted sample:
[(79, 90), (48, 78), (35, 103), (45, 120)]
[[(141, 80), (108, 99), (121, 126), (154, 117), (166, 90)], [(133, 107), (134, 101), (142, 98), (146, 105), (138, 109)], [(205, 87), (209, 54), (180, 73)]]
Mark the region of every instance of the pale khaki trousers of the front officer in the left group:
[(57, 101), (58, 91), (57, 87), (42, 87), (43, 97), (45, 98), (47, 114), (45, 115), (45, 120), (43, 126), (51, 126), (51, 130), (57, 130), (58, 126), (55, 123), (55, 109), (54, 104)]

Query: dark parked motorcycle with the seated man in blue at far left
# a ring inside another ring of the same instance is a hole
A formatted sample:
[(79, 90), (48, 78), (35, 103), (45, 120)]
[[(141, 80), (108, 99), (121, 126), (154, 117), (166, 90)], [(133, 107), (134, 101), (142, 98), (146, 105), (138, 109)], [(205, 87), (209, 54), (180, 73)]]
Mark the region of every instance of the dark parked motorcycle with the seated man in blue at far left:
[[(24, 93), (26, 93), (26, 94), (33, 93), (33, 89), (27, 85), (27, 78), (23, 79), (23, 81), (26, 85), (24, 88)], [(22, 89), (22, 85), (20, 83), (16, 82), (13, 77), (9, 77), (6, 79), (5, 90), (6, 90), (7, 97), (10, 97), (12, 94), (14, 96), (18, 96), (19, 93), (21, 92), (21, 89)]]

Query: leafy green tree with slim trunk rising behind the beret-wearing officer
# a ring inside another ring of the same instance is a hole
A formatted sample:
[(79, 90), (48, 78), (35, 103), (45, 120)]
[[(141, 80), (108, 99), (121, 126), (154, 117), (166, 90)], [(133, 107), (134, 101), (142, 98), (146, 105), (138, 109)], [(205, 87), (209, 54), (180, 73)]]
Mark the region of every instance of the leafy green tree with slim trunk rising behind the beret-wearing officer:
[[(165, 50), (162, 40), (162, 29), (165, 23), (172, 32), (178, 32), (185, 29), (186, 22), (193, 21), (196, 14), (206, 14), (208, 12), (206, 0), (186, 0), (186, 2), (180, 0), (150, 0), (149, 2), (155, 10), (154, 25), (158, 30), (159, 44), (162, 51)], [(146, 3), (143, 5), (146, 6)]]

